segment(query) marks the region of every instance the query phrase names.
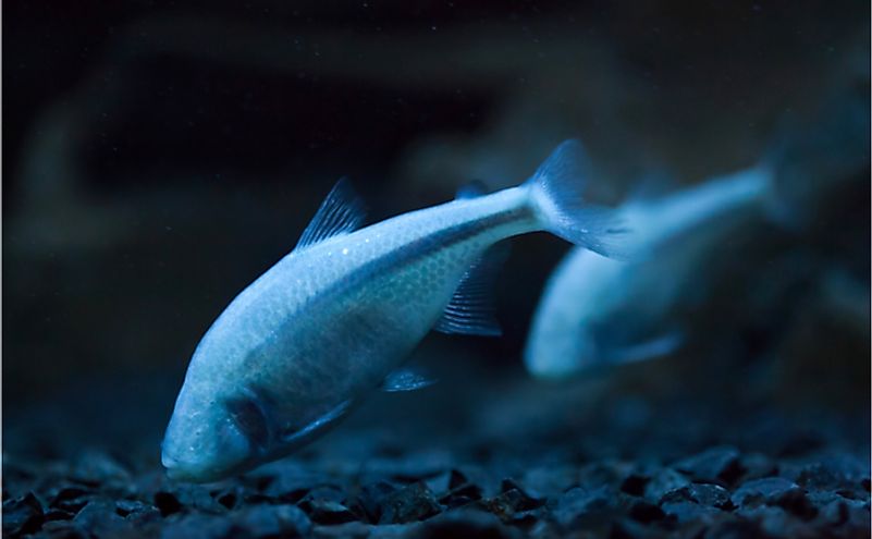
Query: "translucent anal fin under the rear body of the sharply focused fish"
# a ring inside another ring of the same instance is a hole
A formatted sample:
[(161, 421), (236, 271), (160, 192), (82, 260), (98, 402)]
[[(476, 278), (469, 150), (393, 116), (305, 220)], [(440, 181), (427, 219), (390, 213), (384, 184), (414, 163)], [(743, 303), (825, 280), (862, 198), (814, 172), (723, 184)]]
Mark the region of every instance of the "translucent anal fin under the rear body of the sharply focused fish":
[(433, 330), (441, 333), (499, 336), (503, 333), (493, 317), (491, 289), (496, 271), (508, 256), (508, 244), (488, 249), (466, 270), (451, 302)]

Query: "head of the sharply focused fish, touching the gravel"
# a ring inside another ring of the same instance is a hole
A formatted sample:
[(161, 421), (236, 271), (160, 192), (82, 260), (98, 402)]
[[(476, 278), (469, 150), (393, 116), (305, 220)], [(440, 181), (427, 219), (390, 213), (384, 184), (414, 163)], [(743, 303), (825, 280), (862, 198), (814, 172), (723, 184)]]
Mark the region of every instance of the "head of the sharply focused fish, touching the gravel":
[(258, 409), (244, 392), (206, 392), (183, 387), (161, 444), (171, 479), (216, 481), (251, 466), (263, 448)]

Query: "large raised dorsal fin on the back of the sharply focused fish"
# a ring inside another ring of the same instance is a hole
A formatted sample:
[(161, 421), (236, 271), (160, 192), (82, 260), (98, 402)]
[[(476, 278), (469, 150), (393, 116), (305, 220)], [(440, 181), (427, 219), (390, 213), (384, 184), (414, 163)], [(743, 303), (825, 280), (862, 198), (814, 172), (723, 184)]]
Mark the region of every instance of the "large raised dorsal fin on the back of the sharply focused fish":
[(365, 213), (364, 204), (352, 189), (351, 182), (346, 177), (341, 177), (321, 203), (309, 225), (303, 231), (294, 249), (302, 249), (339, 234), (354, 232), (364, 223)]

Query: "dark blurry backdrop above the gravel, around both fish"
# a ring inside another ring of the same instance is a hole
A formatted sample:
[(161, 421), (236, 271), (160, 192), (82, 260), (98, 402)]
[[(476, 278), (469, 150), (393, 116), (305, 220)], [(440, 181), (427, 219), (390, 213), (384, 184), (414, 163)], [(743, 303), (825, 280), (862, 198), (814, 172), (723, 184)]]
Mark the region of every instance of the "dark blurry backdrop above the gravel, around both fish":
[[(4, 451), (99, 446), (157, 466), (199, 338), (295, 244), (337, 177), (374, 221), (474, 179), (518, 183), (568, 136), (592, 155), (601, 203), (651, 171), (689, 184), (737, 170), (785, 117), (814, 125), (833, 99), (868, 98), (869, 10), (4, 2)], [(799, 231), (760, 225), (719, 249), (676, 357), (570, 384), (535, 383), (520, 360), (567, 246), (518, 238), (498, 283), (505, 335), (428, 336), (413, 362), (442, 382), (374, 396), (342, 429), (435, 446), (585, 432), (605, 437), (591, 454), (631, 455), (643, 439), (760, 444), (789, 418), (863, 454), (868, 158), (851, 174)], [(691, 408), (692, 420), (658, 422)]]

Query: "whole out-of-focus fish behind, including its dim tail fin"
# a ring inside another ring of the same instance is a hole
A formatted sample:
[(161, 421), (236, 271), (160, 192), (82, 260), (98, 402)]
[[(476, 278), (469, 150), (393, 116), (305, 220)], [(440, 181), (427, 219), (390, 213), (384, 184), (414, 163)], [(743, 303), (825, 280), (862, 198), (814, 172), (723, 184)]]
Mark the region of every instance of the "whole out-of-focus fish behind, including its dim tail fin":
[[(533, 316), (527, 369), (558, 379), (674, 352), (684, 330), (671, 315), (679, 304), (692, 316), (704, 311), (705, 277), (716, 271), (705, 264), (712, 252), (740, 259), (742, 254), (729, 248), (732, 235), (763, 237), (763, 229), (779, 222), (795, 232), (803, 222), (814, 226), (819, 200), (862, 179), (870, 156), (869, 118), (864, 96), (839, 88), (814, 121), (786, 122), (782, 138), (758, 166), (622, 205), (619, 213), (635, 231), (630, 250), (642, 260), (573, 249), (549, 278)], [(801, 246), (803, 238), (795, 236)], [(722, 333), (741, 323), (725, 322)], [(717, 334), (707, 338), (717, 345)]]

